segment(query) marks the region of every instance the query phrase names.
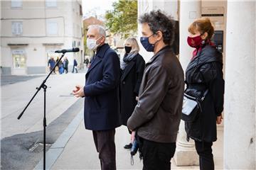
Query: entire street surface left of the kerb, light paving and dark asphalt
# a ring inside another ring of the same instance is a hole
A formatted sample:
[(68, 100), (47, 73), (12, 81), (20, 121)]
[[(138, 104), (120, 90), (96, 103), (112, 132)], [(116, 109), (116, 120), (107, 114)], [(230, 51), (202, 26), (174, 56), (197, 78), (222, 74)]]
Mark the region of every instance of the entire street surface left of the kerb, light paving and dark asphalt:
[[(1, 77), (1, 169), (33, 169), (43, 157), (43, 91), (23, 111), (46, 76)], [(83, 109), (71, 92), (85, 83), (85, 73), (49, 77), (46, 82), (47, 149)]]

